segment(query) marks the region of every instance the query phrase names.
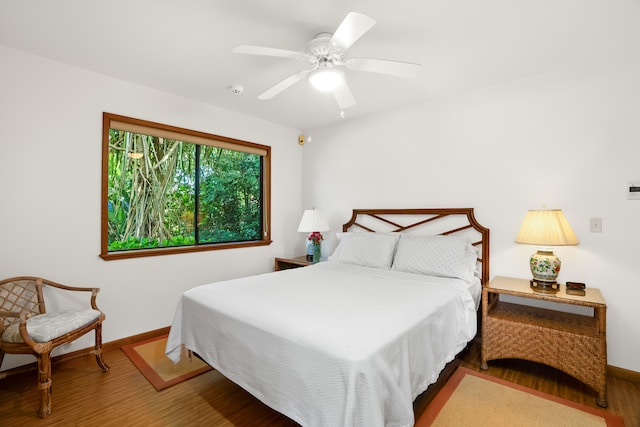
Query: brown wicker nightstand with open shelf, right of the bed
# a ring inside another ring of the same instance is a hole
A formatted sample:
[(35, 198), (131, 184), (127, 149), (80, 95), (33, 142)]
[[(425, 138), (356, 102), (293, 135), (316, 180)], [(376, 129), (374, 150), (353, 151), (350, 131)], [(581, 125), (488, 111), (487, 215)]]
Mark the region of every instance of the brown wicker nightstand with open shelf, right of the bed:
[[(593, 316), (500, 301), (500, 295), (553, 301), (593, 309)], [(525, 359), (559, 369), (592, 387), (607, 406), (607, 306), (600, 290), (584, 296), (535, 292), (525, 279), (496, 277), (482, 291), (482, 360)]]

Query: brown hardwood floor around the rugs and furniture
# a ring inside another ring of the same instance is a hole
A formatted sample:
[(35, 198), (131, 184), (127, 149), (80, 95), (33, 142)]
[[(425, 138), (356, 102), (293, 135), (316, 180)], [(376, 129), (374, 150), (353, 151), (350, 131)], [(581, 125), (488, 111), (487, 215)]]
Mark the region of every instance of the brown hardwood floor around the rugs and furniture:
[[(480, 345), (474, 342), (459, 363), (480, 370)], [(92, 356), (53, 365), (52, 413), (37, 417), (35, 371), (0, 380), (3, 426), (296, 426), (215, 371), (157, 392), (119, 349), (107, 351), (111, 367), (102, 373)], [(483, 371), (545, 393), (596, 407), (596, 393), (577, 380), (534, 363), (490, 362)], [(454, 367), (451, 368), (453, 370)], [(607, 411), (640, 427), (640, 383), (609, 376)], [(416, 399), (419, 415), (435, 388)]]

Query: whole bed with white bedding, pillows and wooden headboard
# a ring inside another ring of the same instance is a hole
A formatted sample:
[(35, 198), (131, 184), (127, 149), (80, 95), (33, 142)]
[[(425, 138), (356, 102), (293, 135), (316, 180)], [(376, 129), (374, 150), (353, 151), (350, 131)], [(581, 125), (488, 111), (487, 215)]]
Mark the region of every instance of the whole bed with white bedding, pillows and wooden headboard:
[(412, 426), (413, 401), (477, 332), (489, 230), (472, 208), (355, 209), (327, 262), (211, 283), (182, 346), (303, 426)]

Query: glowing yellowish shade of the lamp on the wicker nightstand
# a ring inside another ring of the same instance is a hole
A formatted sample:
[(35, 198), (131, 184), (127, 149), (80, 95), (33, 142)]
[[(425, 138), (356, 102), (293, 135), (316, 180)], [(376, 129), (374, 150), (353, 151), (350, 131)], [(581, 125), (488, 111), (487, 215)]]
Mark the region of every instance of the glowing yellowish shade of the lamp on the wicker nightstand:
[(538, 246), (577, 245), (578, 238), (562, 210), (530, 210), (524, 217), (516, 243)]

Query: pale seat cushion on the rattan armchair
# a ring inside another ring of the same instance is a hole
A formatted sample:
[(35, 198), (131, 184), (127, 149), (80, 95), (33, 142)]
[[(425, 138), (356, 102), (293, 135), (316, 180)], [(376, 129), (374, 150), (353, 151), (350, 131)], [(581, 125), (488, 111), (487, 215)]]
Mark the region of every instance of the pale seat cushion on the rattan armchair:
[[(27, 332), (34, 341), (47, 342), (93, 322), (100, 314), (91, 308), (39, 314), (27, 319)], [(23, 342), (19, 328), (20, 322), (9, 325), (2, 333), (2, 341)]]

